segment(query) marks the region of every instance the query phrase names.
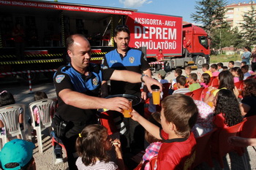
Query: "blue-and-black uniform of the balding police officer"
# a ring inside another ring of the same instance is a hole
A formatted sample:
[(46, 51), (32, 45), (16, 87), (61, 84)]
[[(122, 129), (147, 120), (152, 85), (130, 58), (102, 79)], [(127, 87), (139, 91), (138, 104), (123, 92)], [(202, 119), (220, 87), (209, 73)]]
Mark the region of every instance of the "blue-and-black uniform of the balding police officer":
[(63, 120), (69, 121), (69, 124), (67, 125), (67, 133), (65, 134), (64, 139), (62, 139), (68, 154), (69, 169), (76, 169), (76, 158), (74, 158), (73, 153), (76, 152), (75, 141), (78, 134), (86, 127), (86, 125), (97, 123), (97, 110), (80, 109), (65, 104), (59, 97), (59, 92), (64, 89), (71, 89), (88, 96), (99, 96), (102, 75), (108, 80), (113, 74), (113, 69), (105, 69), (104, 71), (101, 71), (100, 66), (94, 63), (89, 63), (87, 69), (89, 75), (85, 76), (75, 70), (69, 63), (67, 66), (61, 66), (53, 77), (59, 103), (56, 115), (59, 115)]

